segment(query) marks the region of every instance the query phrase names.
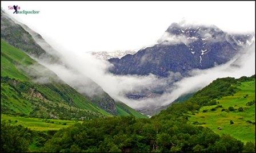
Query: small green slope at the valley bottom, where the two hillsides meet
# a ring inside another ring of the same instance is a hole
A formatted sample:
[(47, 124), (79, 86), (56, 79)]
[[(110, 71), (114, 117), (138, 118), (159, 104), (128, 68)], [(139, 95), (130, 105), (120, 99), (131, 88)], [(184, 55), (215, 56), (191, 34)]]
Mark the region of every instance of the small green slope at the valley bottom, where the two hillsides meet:
[(129, 107), (123, 103), (117, 102), (116, 106), (117, 106), (118, 116), (134, 115), (134, 117), (136, 117), (136, 118), (147, 118), (146, 115), (143, 115), (143, 114), (135, 111), (134, 109), (132, 109), (131, 107)]

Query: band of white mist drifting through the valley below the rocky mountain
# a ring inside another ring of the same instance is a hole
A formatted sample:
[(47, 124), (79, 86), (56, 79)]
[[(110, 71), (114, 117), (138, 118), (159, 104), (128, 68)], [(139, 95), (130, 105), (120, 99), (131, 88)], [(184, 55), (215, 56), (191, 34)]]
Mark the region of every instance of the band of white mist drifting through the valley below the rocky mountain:
[[(254, 44), (246, 51), (235, 56), (226, 64), (218, 65), (206, 70), (193, 70), (190, 77), (174, 82), (172, 86), (165, 86), (169, 82), (181, 77), (179, 73), (170, 72), (167, 78), (158, 78), (155, 75), (119, 76), (107, 72), (112, 65), (108, 61), (96, 59), (90, 53), (82, 51), (61, 51), (61, 61), (65, 64), (50, 64), (39, 60), (51, 71), (55, 72), (67, 84), (89, 96), (101, 94), (105, 90), (116, 101), (122, 101), (134, 109), (143, 109), (169, 105), (182, 94), (195, 92), (216, 78), (251, 76), (255, 74), (255, 47)], [(99, 86), (95, 85), (92, 81)], [(165, 86), (166, 92), (159, 97), (131, 100), (126, 93), (139, 92), (143, 89), (154, 89)]]

